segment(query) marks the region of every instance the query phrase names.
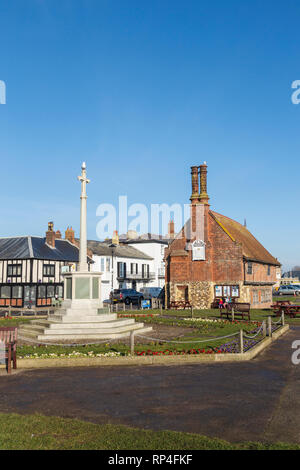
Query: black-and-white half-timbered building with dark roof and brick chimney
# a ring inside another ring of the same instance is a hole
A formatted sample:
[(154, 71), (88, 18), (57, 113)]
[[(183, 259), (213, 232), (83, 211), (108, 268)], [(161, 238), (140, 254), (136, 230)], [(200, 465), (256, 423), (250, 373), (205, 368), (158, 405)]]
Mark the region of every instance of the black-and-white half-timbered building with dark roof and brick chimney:
[(63, 297), (62, 273), (77, 268), (79, 249), (59, 236), (50, 223), (46, 238), (0, 238), (0, 307), (46, 306)]

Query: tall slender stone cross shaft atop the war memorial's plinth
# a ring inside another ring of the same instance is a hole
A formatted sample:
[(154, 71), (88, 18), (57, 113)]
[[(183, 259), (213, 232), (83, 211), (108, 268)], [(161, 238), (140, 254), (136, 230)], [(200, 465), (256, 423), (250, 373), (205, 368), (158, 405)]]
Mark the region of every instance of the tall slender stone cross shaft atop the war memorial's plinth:
[(81, 176), (78, 176), (81, 182), (80, 196), (80, 247), (79, 247), (79, 271), (88, 271), (87, 263), (87, 228), (86, 228), (86, 185), (90, 180), (86, 177), (86, 164), (83, 162), (81, 166)]

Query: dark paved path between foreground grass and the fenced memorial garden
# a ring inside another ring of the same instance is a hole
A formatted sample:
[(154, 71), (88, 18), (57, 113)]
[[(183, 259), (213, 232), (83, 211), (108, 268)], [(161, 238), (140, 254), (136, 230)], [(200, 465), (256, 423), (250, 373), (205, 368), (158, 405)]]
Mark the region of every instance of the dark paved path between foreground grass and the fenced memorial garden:
[(0, 411), (39, 412), (221, 437), (300, 443), (293, 328), (248, 363), (22, 371), (0, 377)]

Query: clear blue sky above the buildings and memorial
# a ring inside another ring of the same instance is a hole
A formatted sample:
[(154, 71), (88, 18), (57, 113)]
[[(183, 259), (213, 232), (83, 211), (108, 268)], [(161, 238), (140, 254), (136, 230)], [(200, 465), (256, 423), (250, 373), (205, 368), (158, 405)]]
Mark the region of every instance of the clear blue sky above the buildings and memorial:
[(284, 265), (300, 264), (297, 0), (0, 3), (1, 236), (79, 230), (76, 177), (96, 207), (189, 202), (208, 163), (211, 207)]

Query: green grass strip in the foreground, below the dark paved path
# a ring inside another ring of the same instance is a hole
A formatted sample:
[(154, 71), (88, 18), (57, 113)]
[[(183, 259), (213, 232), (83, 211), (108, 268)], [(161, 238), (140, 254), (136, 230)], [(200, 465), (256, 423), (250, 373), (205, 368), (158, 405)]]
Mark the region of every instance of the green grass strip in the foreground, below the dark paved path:
[(296, 444), (231, 444), (197, 434), (149, 431), (41, 415), (0, 414), (0, 450), (300, 450)]

